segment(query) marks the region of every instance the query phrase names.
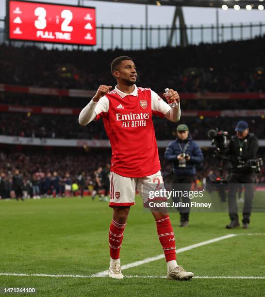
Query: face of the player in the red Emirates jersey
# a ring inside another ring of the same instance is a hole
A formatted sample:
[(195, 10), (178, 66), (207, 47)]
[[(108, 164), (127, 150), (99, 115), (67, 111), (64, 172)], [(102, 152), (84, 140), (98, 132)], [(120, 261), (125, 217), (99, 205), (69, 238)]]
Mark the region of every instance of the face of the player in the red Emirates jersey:
[(131, 60), (124, 60), (114, 71), (114, 76), (117, 80), (126, 85), (133, 85), (137, 79), (137, 72), (134, 63)]

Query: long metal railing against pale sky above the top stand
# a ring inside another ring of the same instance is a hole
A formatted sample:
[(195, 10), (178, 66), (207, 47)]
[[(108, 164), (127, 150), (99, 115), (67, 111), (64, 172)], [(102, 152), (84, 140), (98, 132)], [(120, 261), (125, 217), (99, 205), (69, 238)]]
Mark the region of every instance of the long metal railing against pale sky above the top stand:
[[(0, 43), (6, 42), (4, 20), (0, 20)], [(173, 30), (173, 39), (169, 45), (170, 32)], [(188, 44), (196, 45), (199, 43), (217, 43), (232, 40), (252, 39), (256, 36), (265, 34), (265, 23), (248, 23), (248, 24), (220, 24), (185, 26), (171, 29), (170, 26), (114, 26), (100, 25), (97, 26), (97, 45), (93, 47), (80, 46), (84, 50), (89, 49), (147, 49), (161, 48), (165, 46), (181, 45), (181, 31), (186, 30)], [(19, 46), (25, 44), (22, 41), (12, 41), (12, 44)], [(30, 42), (33, 44), (33, 42)], [(68, 46), (60, 44), (39, 44), (36, 45), (46, 48), (76, 48), (77, 46)]]

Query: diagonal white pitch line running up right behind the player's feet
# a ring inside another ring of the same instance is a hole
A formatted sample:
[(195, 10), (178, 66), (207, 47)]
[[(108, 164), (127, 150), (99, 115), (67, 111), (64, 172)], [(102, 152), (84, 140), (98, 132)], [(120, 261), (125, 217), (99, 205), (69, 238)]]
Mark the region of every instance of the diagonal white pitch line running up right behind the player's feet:
[[(220, 241), (220, 240), (223, 240), (223, 239), (226, 239), (226, 238), (231, 238), (231, 237), (234, 237), (234, 236), (237, 236), (237, 234), (228, 234), (228, 235), (225, 235), (225, 236), (216, 237), (214, 239), (202, 241), (202, 242), (199, 242), (198, 244), (195, 244), (195, 245), (191, 245), (191, 246), (187, 246), (187, 247), (181, 247), (176, 251), (176, 253), (179, 254), (179, 253), (181, 253), (183, 251), (190, 250), (190, 249), (193, 249), (195, 247), (201, 247), (201, 246), (209, 245), (209, 244), (214, 243), (216, 241)], [(160, 259), (163, 259), (163, 258), (165, 258), (164, 254), (161, 254), (161, 255), (158, 255), (158, 256), (155, 256), (155, 257), (146, 258), (146, 259), (141, 260), (141, 261), (136, 261), (136, 262), (129, 263), (129, 264), (126, 264), (126, 265), (122, 265), (121, 270), (132, 268), (132, 267), (139, 266), (139, 265), (142, 265), (142, 264), (147, 264), (149, 262), (153, 262), (153, 261), (160, 260)], [(108, 275), (108, 273), (109, 273), (108, 270), (104, 270), (104, 271), (101, 271), (99, 273), (95, 273), (93, 275), (96, 276), (96, 277), (104, 277), (104, 276)]]

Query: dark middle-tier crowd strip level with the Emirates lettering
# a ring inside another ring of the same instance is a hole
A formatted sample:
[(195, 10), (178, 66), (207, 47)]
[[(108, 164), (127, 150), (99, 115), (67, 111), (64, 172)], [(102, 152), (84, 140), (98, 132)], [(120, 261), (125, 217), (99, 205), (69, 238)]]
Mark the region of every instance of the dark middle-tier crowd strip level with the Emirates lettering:
[[(248, 122), (251, 133), (264, 139), (265, 119), (261, 117), (241, 118)], [(238, 117), (184, 117), (178, 124), (190, 127), (193, 139), (208, 139), (207, 132), (218, 128), (227, 131), (229, 136), (235, 132)], [(170, 140), (176, 137), (176, 123), (154, 117), (154, 128), (158, 140)], [(9, 123), (8, 125), (6, 123)], [(63, 139), (107, 139), (103, 122), (96, 121), (80, 126), (74, 115), (27, 115), (17, 113), (0, 114), (0, 135), (63, 138)]]

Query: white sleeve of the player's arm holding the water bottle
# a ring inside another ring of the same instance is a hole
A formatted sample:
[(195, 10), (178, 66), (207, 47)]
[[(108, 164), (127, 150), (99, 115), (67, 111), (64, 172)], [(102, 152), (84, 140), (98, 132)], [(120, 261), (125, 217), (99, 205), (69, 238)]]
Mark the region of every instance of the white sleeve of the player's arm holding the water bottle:
[(171, 108), (162, 98), (151, 90), (152, 111), (157, 112), (158, 115), (164, 115), (172, 122), (178, 122), (181, 117), (180, 105)]

